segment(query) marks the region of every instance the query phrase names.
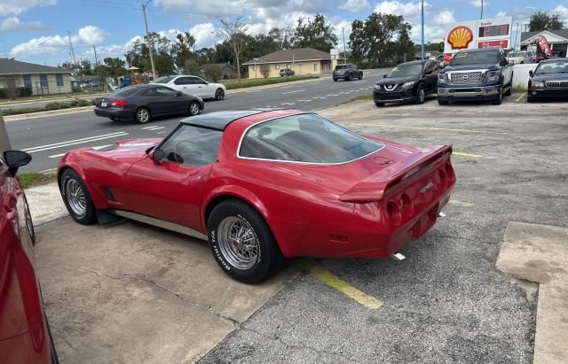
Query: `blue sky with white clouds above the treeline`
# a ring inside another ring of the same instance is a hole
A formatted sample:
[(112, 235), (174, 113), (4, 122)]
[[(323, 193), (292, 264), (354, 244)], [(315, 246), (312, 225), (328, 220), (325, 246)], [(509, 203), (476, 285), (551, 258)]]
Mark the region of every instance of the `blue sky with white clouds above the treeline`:
[[(142, 0), (0, 0), (0, 58), (57, 66), (75, 58), (94, 61), (123, 57), (131, 43), (145, 34)], [(538, 3), (538, 5), (537, 5)], [(426, 42), (444, 37), (455, 21), (479, 19), (481, 0), (425, 0)], [(538, 10), (559, 12), (568, 27), (568, 3), (564, 0), (485, 0), (484, 19), (513, 17), (513, 28), (526, 23)], [(242, 16), (248, 33), (267, 33), (272, 27), (295, 27), (300, 18), (322, 13), (338, 35), (339, 47), (349, 41), (351, 21), (367, 19), (372, 12), (403, 15), (412, 27), (412, 38), (421, 39), (421, 2), (418, 0), (151, 0), (146, 14), (150, 31), (173, 39), (189, 31), (196, 47), (219, 42), (219, 19)], [(513, 35), (515, 39), (515, 35)]]

